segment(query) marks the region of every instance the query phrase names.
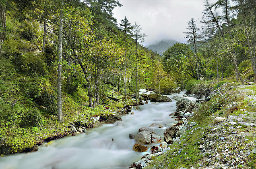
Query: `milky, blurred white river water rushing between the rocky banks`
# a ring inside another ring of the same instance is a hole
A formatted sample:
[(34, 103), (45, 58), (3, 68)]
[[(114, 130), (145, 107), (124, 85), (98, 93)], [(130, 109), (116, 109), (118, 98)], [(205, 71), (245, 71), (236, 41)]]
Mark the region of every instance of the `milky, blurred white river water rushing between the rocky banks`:
[[(140, 92), (150, 93), (143, 89)], [(182, 97), (183, 94), (184, 91), (166, 96)], [(195, 100), (193, 97), (187, 98)], [(153, 124), (155, 132), (163, 137), (165, 128), (177, 122), (169, 116), (176, 109), (174, 99), (167, 103), (148, 102), (139, 107), (139, 110), (133, 108), (134, 115), (122, 116), (122, 121), (114, 124), (105, 124), (77, 136), (54, 140), (48, 147), (40, 146), (36, 152), (0, 157), (0, 168), (129, 168), (133, 162), (146, 154), (133, 151), (136, 142), (129, 139), (130, 133), (136, 134), (140, 127)], [(158, 128), (160, 124), (163, 125), (162, 128)], [(159, 143), (147, 145), (148, 152), (151, 152), (152, 145)]]

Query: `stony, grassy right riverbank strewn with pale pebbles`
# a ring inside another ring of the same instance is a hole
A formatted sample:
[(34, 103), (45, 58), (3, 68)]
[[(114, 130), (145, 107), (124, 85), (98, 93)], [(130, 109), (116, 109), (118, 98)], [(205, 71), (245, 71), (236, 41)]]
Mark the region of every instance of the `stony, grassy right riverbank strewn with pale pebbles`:
[(144, 168), (255, 168), (255, 105), (255, 85), (223, 84), (185, 121), (196, 125)]

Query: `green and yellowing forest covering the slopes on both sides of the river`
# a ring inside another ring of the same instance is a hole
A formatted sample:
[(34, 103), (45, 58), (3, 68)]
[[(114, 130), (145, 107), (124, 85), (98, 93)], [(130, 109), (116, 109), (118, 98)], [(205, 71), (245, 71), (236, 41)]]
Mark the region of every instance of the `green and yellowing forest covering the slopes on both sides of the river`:
[(186, 21), (187, 43), (161, 56), (143, 46), (140, 23), (113, 17), (119, 0), (0, 0), (0, 145), (9, 145), (6, 154), (61, 138), (74, 122), (88, 127), (93, 117), (141, 105), (140, 89), (170, 95), (179, 88), (189, 95), (212, 84), (256, 83), (255, 0), (204, 4), (201, 20)]

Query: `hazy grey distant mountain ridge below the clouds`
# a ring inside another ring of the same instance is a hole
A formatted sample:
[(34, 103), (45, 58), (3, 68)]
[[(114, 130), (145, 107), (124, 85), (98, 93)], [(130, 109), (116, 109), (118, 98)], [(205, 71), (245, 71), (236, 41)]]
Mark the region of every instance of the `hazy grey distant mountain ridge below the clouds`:
[(173, 39), (163, 39), (158, 43), (147, 45), (146, 48), (156, 51), (159, 55), (163, 55), (163, 52), (166, 51), (170, 46), (173, 46), (176, 42), (179, 43)]

